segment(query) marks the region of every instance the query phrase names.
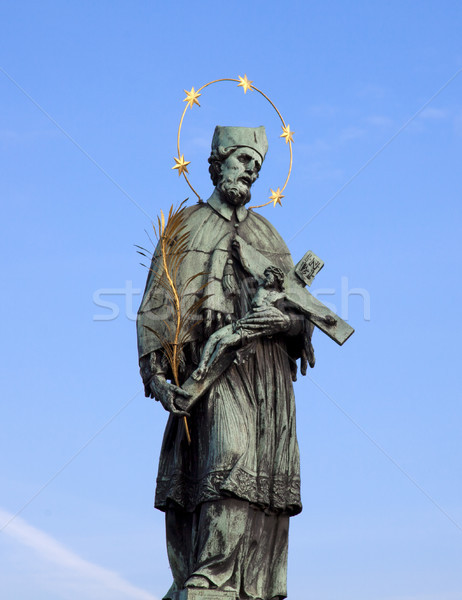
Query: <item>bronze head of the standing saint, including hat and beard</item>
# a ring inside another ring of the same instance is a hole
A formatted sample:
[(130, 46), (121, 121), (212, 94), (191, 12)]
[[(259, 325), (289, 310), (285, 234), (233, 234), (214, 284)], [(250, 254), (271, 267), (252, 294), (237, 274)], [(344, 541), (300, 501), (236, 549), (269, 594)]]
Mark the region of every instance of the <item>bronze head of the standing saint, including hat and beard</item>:
[(234, 206), (250, 200), (250, 188), (265, 160), (264, 127), (215, 128), (209, 171), (221, 198)]

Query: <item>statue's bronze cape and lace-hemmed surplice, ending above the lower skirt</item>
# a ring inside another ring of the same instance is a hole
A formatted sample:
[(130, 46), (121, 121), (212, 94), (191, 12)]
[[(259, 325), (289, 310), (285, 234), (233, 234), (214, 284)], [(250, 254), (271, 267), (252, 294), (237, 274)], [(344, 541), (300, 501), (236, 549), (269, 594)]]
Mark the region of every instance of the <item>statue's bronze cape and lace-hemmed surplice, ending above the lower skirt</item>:
[[(237, 218), (227, 218), (230, 215), (210, 204), (199, 204), (187, 208), (185, 216), (190, 235), (177, 281), (181, 285), (191, 275), (203, 275), (191, 285), (184, 310), (205, 293), (209, 297), (202, 311), (243, 316), (235, 314), (235, 303), (225, 293), (222, 282), (231, 256), (239, 263), (236, 268), (240, 283), (247, 277), (252, 279), (249, 261), (233, 254), (234, 239), (243, 240), (285, 273), (293, 269), (284, 241), (257, 213), (244, 209), (237, 211)], [(157, 268), (155, 261), (152, 268)], [(201, 288), (206, 282), (209, 285), (204, 291)], [(245, 287), (241, 285), (241, 289)], [(155, 286), (151, 272), (138, 313), (140, 359), (160, 350), (158, 339), (148, 327), (166, 335), (163, 321), (169, 322), (169, 311), (165, 291)], [(193, 407), (188, 419), (191, 445), (185, 439), (181, 420), (169, 416), (159, 460), (157, 508), (166, 510), (173, 504), (194, 511), (202, 502), (234, 497), (270, 513), (294, 515), (301, 511), (292, 372), (305, 336), (302, 328), (296, 336), (281, 334), (256, 340), (250, 357), (243, 364), (233, 363)], [(199, 324), (187, 347), (200, 350), (205, 341)], [(197, 356), (191, 356), (187, 354), (182, 381), (197, 366)]]

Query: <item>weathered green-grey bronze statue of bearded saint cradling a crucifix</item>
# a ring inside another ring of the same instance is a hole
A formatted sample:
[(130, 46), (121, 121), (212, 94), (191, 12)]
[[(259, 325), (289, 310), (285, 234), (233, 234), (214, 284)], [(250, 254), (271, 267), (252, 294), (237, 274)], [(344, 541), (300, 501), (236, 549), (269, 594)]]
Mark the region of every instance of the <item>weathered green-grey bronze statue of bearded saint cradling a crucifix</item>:
[[(188, 393), (170, 383), (152, 333), (153, 323), (169, 319), (152, 273), (139, 310), (146, 395), (170, 412), (155, 498), (166, 513), (174, 579), (165, 598), (194, 588), (239, 599), (287, 596), (289, 518), (302, 510), (292, 382), (297, 359), (303, 374), (314, 366), (313, 324), (285, 302), (293, 262), (284, 241), (246, 208), (267, 148), (263, 127), (217, 127), (209, 158), (215, 189), (206, 203), (185, 209), (189, 237), (178, 280), (201, 273), (191, 299), (207, 298), (184, 348), (180, 383), (200, 381), (222, 354), (236, 353), (188, 411), (191, 443), (179, 418)], [(258, 280), (260, 260), (270, 266)]]

